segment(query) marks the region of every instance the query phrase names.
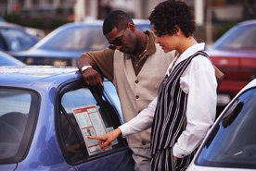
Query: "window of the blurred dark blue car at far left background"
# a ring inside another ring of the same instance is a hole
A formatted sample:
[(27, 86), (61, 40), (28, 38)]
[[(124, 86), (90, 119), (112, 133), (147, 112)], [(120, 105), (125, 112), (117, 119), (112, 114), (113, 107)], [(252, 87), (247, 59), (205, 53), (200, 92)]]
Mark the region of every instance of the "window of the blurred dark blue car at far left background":
[(2, 28), (0, 32), (8, 44), (9, 51), (26, 50), (36, 43), (36, 40), (32, 39), (29, 34), (23, 31)]

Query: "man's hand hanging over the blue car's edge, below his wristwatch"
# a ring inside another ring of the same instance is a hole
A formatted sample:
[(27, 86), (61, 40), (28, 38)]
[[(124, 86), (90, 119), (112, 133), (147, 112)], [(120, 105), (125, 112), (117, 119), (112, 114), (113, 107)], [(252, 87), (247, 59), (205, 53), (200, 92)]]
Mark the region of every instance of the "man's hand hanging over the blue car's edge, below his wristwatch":
[(83, 71), (83, 79), (87, 85), (103, 86), (102, 77), (94, 68), (88, 68)]

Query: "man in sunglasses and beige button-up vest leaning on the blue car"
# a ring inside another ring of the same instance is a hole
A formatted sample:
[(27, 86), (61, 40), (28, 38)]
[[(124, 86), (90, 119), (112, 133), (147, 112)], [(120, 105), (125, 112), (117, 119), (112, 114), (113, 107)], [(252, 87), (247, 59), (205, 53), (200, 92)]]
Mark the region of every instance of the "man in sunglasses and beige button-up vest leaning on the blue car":
[[(157, 96), (174, 53), (165, 54), (151, 31), (140, 31), (125, 12), (111, 12), (103, 23), (109, 48), (88, 52), (78, 60), (88, 85), (103, 86), (102, 77), (116, 87), (124, 121), (134, 118)], [(127, 138), (135, 171), (150, 170), (150, 129)]]

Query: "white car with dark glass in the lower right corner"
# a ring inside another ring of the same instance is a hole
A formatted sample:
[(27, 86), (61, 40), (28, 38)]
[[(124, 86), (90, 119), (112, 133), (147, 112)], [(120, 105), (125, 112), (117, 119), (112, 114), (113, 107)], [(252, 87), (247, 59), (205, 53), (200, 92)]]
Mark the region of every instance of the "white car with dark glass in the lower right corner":
[(256, 171), (256, 79), (229, 103), (187, 171)]

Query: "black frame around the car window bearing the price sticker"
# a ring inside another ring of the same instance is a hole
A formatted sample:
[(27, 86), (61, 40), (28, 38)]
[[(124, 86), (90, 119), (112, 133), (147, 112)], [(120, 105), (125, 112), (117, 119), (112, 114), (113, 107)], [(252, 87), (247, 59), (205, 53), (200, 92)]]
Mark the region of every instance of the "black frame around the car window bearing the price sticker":
[[(62, 140), (61, 138), (61, 126), (59, 124), (59, 120), (60, 120), (60, 109), (61, 109), (61, 105), (60, 102), (61, 102), (61, 98), (62, 98), (62, 95), (65, 93), (65, 92), (70, 92), (70, 90), (73, 90), (74, 88), (88, 88), (92, 91), (92, 87), (88, 87), (84, 84), (84, 81), (83, 79), (74, 79), (74, 80), (70, 80), (68, 82), (65, 82), (64, 84), (60, 85), (58, 87), (58, 96), (57, 96), (57, 100), (56, 100), (56, 111), (55, 111), (55, 117), (56, 117), (56, 122), (55, 122), (55, 125), (56, 125), (56, 131), (57, 131), (57, 137), (58, 137), (58, 144), (59, 144), (59, 147), (60, 147), (60, 150), (61, 150), (61, 153), (65, 159), (65, 161), (67, 162), (67, 164), (69, 165), (81, 165), (83, 163), (87, 163), (87, 162), (90, 162), (90, 161), (93, 161), (93, 160), (96, 160), (98, 158), (101, 158), (101, 157), (105, 157), (105, 156), (108, 156), (110, 154), (113, 154), (113, 153), (118, 153), (118, 152), (121, 152), (121, 151), (124, 151), (124, 150), (127, 150), (128, 149), (128, 143), (127, 141), (125, 140), (125, 138), (122, 138), (120, 137), (119, 140), (122, 140), (122, 147), (118, 148), (118, 149), (112, 149), (110, 151), (106, 151), (104, 153), (98, 153), (98, 154), (94, 154), (94, 155), (91, 155), (91, 156), (86, 156), (84, 157), (83, 156), (83, 160), (81, 161), (78, 161), (78, 162), (75, 162), (75, 163), (71, 163), (70, 162), (70, 159), (69, 159), (69, 156), (67, 155), (67, 153), (65, 152), (65, 147), (64, 147), (64, 140)], [(77, 89), (76, 89), (77, 90)], [(105, 92), (104, 91), (104, 94), (108, 97), (108, 102), (109, 104), (112, 105), (112, 107), (115, 109), (116, 111), (116, 114), (119, 113), (119, 111), (117, 110), (115, 104), (113, 102), (111, 102), (111, 98), (108, 94), (108, 92)], [(119, 126), (122, 124), (122, 119), (120, 118), (120, 116), (116, 116), (117, 119), (118, 119), (118, 122), (119, 122)], [(81, 134), (81, 132), (80, 132)], [(84, 142), (84, 140), (83, 140)], [(85, 151), (87, 149), (85, 148)]]

